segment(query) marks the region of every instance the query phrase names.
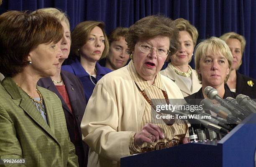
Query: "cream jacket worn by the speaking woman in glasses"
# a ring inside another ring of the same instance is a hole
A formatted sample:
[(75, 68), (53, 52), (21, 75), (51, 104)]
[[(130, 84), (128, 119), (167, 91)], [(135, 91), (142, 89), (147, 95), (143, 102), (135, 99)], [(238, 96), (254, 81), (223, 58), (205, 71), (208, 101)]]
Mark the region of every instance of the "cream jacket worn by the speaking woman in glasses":
[[(183, 99), (179, 87), (161, 75), (169, 99)], [(115, 167), (129, 155), (129, 138), (141, 128), (145, 101), (127, 66), (97, 82), (81, 123), (83, 140), (90, 146), (88, 167)]]

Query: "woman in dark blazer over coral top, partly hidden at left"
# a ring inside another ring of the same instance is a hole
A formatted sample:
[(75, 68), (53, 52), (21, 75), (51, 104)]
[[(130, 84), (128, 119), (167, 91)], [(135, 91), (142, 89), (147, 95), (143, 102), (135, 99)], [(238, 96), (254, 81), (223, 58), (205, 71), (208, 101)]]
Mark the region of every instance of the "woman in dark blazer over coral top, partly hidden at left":
[(79, 166), (86, 167), (87, 152), (89, 149), (86, 143), (82, 141), (82, 133), (80, 130), (80, 124), (86, 107), (84, 90), (79, 78), (70, 72), (61, 70), (61, 65), (64, 60), (67, 59), (70, 51), (69, 20), (64, 12), (56, 8), (43, 8), (37, 11), (54, 15), (60, 20), (61, 25), (64, 27), (64, 34), (60, 41), (62, 56), (59, 59), (57, 73), (51, 77), (41, 78), (37, 84), (56, 93), (60, 98), (67, 122), (69, 137), (75, 146)]

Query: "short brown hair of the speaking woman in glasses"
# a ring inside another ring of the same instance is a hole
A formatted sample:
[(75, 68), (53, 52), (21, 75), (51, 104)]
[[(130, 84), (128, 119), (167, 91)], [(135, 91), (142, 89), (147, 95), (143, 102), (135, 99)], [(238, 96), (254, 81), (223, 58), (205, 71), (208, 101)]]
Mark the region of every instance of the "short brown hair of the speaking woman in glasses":
[(125, 38), (130, 53), (139, 40), (165, 36), (170, 39), (169, 55), (174, 54), (179, 48), (179, 31), (174, 26), (173, 20), (162, 15), (147, 16), (138, 20), (129, 28)]

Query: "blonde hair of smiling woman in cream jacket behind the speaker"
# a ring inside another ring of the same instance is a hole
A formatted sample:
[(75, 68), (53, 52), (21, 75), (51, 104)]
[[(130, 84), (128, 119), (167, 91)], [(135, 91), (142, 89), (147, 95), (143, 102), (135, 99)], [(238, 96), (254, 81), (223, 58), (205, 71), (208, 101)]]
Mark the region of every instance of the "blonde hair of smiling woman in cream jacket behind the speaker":
[(195, 45), (197, 45), (197, 38), (198, 38), (198, 32), (194, 25), (190, 24), (188, 20), (185, 20), (183, 18), (178, 18), (174, 20), (175, 28), (177, 28), (179, 31), (187, 31), (189, 35), (192, 37), (192, 41)]

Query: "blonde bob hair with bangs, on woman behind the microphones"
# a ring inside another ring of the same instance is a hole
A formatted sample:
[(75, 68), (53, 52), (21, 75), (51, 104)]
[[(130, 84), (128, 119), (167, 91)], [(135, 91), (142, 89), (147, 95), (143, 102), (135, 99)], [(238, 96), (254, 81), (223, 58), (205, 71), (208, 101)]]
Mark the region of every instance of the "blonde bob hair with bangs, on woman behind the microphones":
[[(202, 76), (198, 74), (198, 71), (200, 69), (200, 60), (204, 58), (209, 51), (213, 54), (223, 55), (228, 60), (228, 68), (231, 71), (233, 56), (228, 45), (218, 37), (210, 37), (209, 39), (200, 42), (195, 48), (195, 70), (197, 71), (198, 80), (201, 83)], [(230, 72), (226, 77), (224, 83), (227, 82), (229, 75)]]

